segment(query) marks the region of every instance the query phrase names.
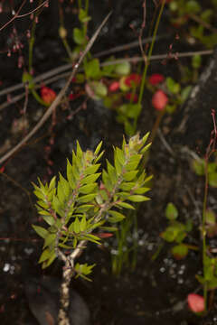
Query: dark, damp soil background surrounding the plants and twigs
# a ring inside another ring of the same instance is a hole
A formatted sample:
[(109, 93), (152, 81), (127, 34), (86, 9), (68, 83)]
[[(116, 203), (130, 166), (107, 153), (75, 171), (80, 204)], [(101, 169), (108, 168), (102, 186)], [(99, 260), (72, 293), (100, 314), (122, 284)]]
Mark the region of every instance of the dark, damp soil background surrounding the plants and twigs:
[[(142, 23), (141, 1), (100, 2), (95, 0), (90, 3), (90, 12), (93, 16), (90, 33), (96, 29), (111, 8), (114, 10), (109, 24), (101, 32), (93, 51), (104, 51), (120, 43), (135, 41), (137, 36), (129, 28), (129, 24), (133, 23), (138, 31)], [(151, 1), (147, 3), (147, 21), (150, 23), (154, 5)], [(67, 4), (65, 6), (67, 7)], [(2, 22), (6, 22), (8, 16), (9, 14), (3, 13)], [(68, 10), (66, 26), (69, 31), (74, 25), (71, 16), (75, 17)], [(165, 11), (159, 33), (165, 31), (166, 19)], [(15, 26), (21, 36), (30, 25), (27, 18), (15, 21)], [(0, 33), (1, 89), (19, 83), (23, 72), (16, 68), (17, 54), (7, 57), (4, 52), (8, 46), (10, 32), (12, 32), (12, 26), (8, 26)], [(66, 53), (56, 37), (57, 32), (57, 1), (53, 0), (50, 8), (42, 12), (36, 32), (33, 57), (35, 76), (65, 63)], [(174, 31), (168, 30), (168, 32), (171, 38), (157, 42), (156, 53), (165, 53), (171, 42), (174, 42)], [(175, 51), (184, 51), (187, 47), (184, 39), (180, 39), (175, 46), (177, 47)], [(25, 38), (22, 51), (27, 60)], [(139, 53), (139, 50), (128, 53), (133, 55)], [(125, 54), (127, 53), (121, 53), (121, 55)], [(186, 60), (186, 64), (188, 63), (189, 61)], [(148, 74), (154, 72), (178, 78), (178, 62), (171, 60), (163, 65), (157, 61), (151, 64)], [(52, 88), (59, 91), (62, 85), (62, 81), (57, 81)], [(5, 99), (5, 97), (0, 98), (1, 102)], [(17, 144), (42, 116), (43, 108), (30, 96), (26, 128), (19, 131), (19, 123), (24, 121), (24, 117), (21, 116), (23, 106), (24, 101), (20, 101), (0, 111), (1, 156)], [(31, 227), (32, 224), (39, 222), (34, 208), (35, 198), (31, 182), (37, 182), (37, 177), (47, 181), (58, 172), (64, 174), (66, 158), (71, 157), (71, 151), (75, 148), (77, 139), (83, 150), (93, 149), (102, 139), (104, 149), (109, 151), (108, 156), (112, 152), (112, 146), (122, 141), (124, 129), (122, 125), (118, 125), (114, 111), (109, 111), (99, 101), (89, 99), (87, 108), (80, 110), (77, 115), (69, 119), (68, 116), (79, 106), (80, 100), (78, 99), (71, 102), (70, 107), (66, 109), (59, 107), (54, 127), (52, 127), (51, 120), (43, 125), (37, 135), (6, 163), (5, 173), (0, 175), (1, 324), (37, 324), (24, 294), (26, 279), (31, 276), (40, 277), (42, 274), (61, 277), (61, 263), (56, 262), (44, 272), (37, 263), (42, 240), (37, 237)], [(191, 131), (190, 135), (187, 133), (180, 135), (177, 131), (180, 119), (184, 118), (184, 107), (180, 107), (173, 116), (165, 116), (163, 120), (161, 136), (156, 137), (147, 165), (147, 173), (155, 176), (152, 190), (149, 193), (151, 200), (140, 207), (137, 216), (136, 269), (132, 271), (128, 266), (123, 269), (119, 277), (112, 275), (111, 257), (109, 247), (106, 245), (103, 249), (91, 246), (85, 252), (85, 256), (82, 256), (86, 262), (97, 264), (91, 276), (93, 280), (91, 283), (80, 280), (73, 283), (90, 307), (92, 324), (213, 325), (216, 323), (216, 303), (212, 304), (212, 311), (204, 318), (194, 316), (187, 308), (188, 293), (199, 289), (199, 292), (203, 294), (200, 284), (195, 279), (195, 274), (202, 273), (202, 259), (198, 252), (191, 251), (184, 260), (177, 261), (170, 253), (171, 246), (165, 245), (156, 260), (151, 259), (162, 243), (159, 235), (166, 227), (165, 207), (168, 202), (175, 203), (182, 222), (188, 218), (193, 219), (194, 230), (188, 238), (188, 243), (201, 245), (198, 226), (203, 209), (204, 180), (203, 177), (196, 176), (191, 168), (191, 150), (196, 152), (198, 145), (202, 145), (202, 154), (204, 153), (204, 147), (208, 144), (207, 139), (209, 142), (211, 126), (207, 125), (207, 120), (203, 118), (203, 115), (208, 116), (208, 119), (210, 116), (211, 119), (212, 108), (206, 107), (206, 112), (203, 110), (203, 114), (198, 109), (197, 118), (193, 119), (193, 125), (191, 125), (195, 129), (195, 134)], [(156, 114), (151, 107), (150, 94), (147, 93), (142, 116), (139, 118), (138, 131), (142, 135), (146, 134), (152, 128), (155, 119)], [(200, 128), (200, 133), (196, 133), (198, 128)], [(54, 140), (52, 145), (50, 145), (51, 139)], [(171, 151), (168, 151), (164, 139)], [(49, 161), (52, 164), (49, 165)], [(217, 209), (213, 189), (210, 190), (208, 205), (212, 209)], [(109, 245), (113, 245), (112, 240), (109, 241)], [(215, 239), (212, 239), (212, 246), (216, 246)]]

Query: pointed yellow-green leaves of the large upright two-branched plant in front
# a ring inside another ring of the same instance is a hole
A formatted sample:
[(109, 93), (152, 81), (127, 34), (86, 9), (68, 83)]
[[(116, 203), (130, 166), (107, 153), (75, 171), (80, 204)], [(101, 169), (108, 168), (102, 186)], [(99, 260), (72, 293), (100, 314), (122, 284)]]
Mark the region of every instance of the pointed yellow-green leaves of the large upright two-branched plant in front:
[[(82, 152), (77, 143), (71, 162), (67, 161), (66, 177), (60, 173), (58, 181), (53, 177), (45, 185), (40, 180), (38, 185), (33, 184), (38, 213), (45, 221), (43, 227), (33, 226), (44, 241), (39, 260), (42, 268), (51, 265), (65, 249), (73, 252), (81, 241), (100, 245), (96, 229), (117, 230), (114, 225), (126, 218), (126, 209), (134, 209), (132, 203), (148, 200), (144, 194), (149, 190), (146, 187), (149, 178), (139, 168), (150, 146), (146, 144), (147, 136), (140, 139), (135, 135), (128, 143), (124, 139), (121, 149), (114, 148), (114, 165), (107, 161), (102, 172), (99, 172), (102, 143), (95, 152)], [(91, 268), (77, 265), (74, 271), (86, 278)]]

